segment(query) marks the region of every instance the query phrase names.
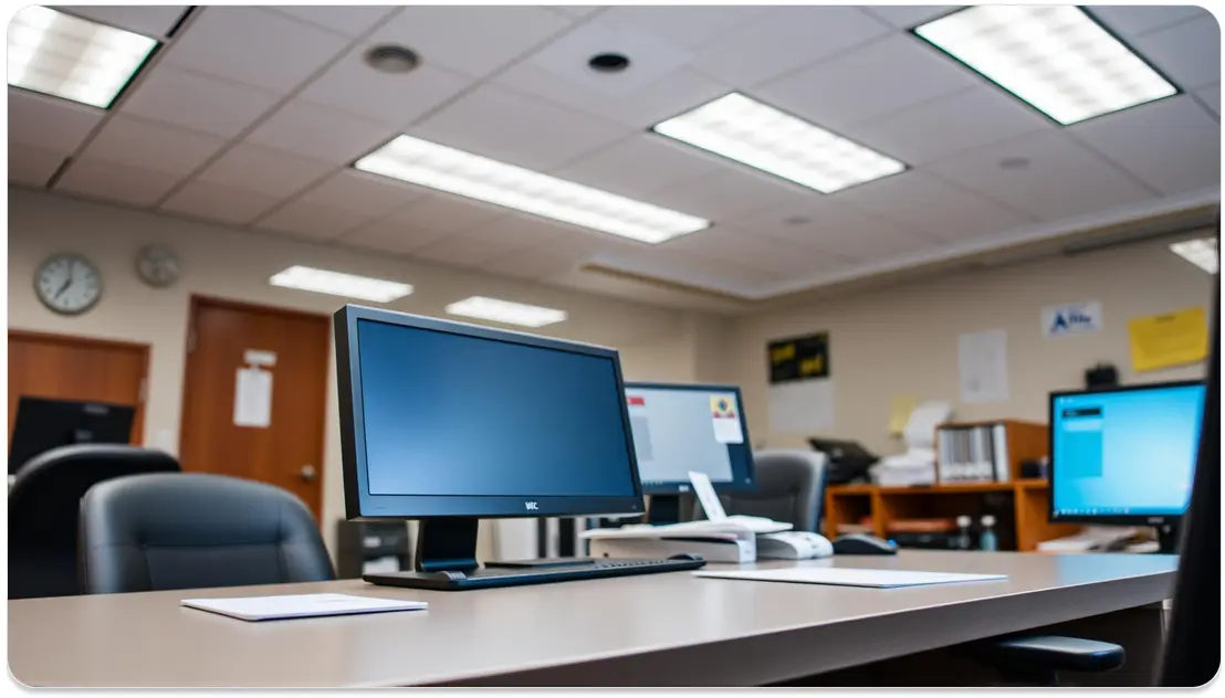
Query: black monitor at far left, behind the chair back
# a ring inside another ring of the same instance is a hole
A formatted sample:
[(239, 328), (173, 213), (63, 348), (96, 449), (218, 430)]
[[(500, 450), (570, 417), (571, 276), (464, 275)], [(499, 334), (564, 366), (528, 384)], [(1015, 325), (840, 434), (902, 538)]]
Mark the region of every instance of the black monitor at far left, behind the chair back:
[(60, 446), (130, 443), (135, 419), (135, 405), (22, 396), (9, 446), (9, 474)]

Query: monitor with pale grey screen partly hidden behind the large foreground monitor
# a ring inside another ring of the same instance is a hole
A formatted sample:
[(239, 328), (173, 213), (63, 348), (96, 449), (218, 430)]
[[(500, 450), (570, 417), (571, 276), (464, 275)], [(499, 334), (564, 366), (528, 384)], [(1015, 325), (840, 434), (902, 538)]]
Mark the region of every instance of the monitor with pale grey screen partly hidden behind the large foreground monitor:
[(690, 471), (715, 491), (752, 490), (753, 449), (736, 386), (626, 383), (638, 475), (650, 523), (675, 523)]

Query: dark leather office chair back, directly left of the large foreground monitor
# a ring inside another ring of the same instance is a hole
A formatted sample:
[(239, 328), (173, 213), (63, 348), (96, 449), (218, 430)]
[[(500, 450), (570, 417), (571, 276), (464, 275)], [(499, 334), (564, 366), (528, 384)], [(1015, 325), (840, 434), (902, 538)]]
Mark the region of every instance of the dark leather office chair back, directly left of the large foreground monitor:
[(223, 475), (137, 475), (81, 501), (89, 594), (325, 582), (318, 524), (294, 495)]

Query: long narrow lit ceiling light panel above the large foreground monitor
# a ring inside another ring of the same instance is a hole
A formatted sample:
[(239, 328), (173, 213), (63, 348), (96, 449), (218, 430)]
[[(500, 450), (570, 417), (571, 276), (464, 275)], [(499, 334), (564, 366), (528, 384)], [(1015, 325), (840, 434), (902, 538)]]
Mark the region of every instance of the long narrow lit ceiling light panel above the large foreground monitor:
[(397, 137), (353, 167), (642, 242), (658, 244), (710, 227), (696, 216), (412, 136)]

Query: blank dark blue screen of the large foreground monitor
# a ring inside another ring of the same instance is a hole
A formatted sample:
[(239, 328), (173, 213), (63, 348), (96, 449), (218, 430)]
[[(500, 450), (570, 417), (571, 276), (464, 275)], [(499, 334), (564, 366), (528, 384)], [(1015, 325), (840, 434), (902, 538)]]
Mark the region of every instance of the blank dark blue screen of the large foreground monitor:
[(371, 495), (635, 496), (612, 358), (356, 328)]

